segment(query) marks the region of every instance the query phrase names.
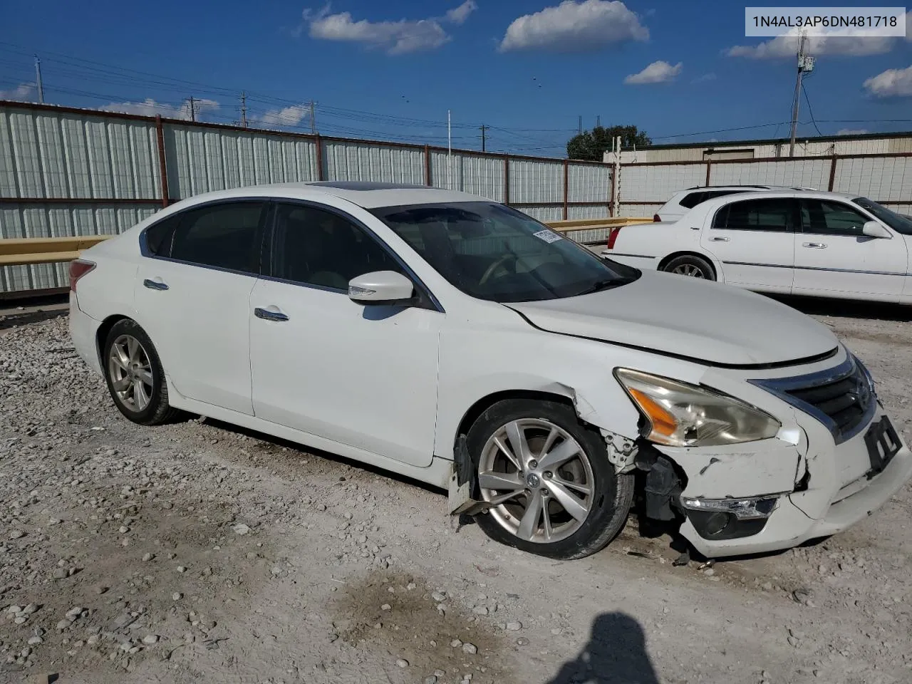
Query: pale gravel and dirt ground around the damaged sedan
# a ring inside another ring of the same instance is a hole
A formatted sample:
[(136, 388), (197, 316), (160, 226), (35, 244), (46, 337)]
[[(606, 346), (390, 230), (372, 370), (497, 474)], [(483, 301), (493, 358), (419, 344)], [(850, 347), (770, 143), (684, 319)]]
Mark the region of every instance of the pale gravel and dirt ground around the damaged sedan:
[[(912, 439), (912, 310), (789, 304)], [(0, 681), (912, 681), (908, 486), (823, 544), (704, 568), (634, 523), (545, 560), (445, 503), (211, 420), (134, 426), (66, 316), (0, 320)]]

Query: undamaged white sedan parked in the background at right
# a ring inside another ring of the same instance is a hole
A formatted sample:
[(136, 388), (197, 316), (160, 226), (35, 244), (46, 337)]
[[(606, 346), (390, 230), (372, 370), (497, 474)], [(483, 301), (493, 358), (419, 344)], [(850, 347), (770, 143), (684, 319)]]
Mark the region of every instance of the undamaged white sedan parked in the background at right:
[(912, 303), (912, 220), (855, 195), (748, 192), (614, 229), (622, 264), (758, 292)]

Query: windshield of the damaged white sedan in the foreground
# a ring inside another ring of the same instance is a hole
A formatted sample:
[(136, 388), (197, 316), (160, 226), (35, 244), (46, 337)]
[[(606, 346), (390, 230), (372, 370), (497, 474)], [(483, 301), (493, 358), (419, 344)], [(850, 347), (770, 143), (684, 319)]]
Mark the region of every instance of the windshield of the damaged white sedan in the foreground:
[(496, 202), (383, 207), (371, 212), (451, 285), (492, 302), (586, 295), (636, 280), (543, 223)]

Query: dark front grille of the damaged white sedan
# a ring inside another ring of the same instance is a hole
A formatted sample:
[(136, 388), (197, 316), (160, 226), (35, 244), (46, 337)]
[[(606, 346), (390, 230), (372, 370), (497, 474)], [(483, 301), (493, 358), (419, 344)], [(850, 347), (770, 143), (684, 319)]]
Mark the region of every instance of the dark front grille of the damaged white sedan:
[(812, 376), (753, 382), (820, 420), (837, 444), (854, 437), (876, 409), (867, 371), (851, 356), (839, 368)]

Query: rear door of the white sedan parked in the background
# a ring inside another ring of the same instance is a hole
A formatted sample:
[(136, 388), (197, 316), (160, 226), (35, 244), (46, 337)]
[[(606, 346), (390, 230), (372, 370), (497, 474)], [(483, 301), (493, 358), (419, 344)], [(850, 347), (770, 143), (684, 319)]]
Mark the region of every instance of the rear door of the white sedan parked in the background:
[(721, 262), (725, 283), (789, 294), (796, 220), (793, 195), (729, 202), (709, 213), (700, 246)]

